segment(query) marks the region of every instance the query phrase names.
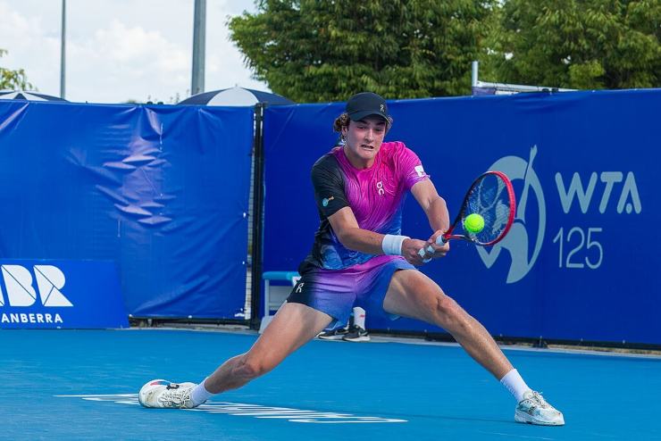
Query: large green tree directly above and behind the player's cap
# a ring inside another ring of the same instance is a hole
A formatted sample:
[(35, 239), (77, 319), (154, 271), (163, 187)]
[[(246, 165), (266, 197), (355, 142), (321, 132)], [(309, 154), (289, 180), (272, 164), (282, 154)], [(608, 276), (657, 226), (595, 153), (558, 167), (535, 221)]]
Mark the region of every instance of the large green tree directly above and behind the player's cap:
[(496, 0), (261, 0), (229, 21), (255, 78), (305, 103), (470, 93)]

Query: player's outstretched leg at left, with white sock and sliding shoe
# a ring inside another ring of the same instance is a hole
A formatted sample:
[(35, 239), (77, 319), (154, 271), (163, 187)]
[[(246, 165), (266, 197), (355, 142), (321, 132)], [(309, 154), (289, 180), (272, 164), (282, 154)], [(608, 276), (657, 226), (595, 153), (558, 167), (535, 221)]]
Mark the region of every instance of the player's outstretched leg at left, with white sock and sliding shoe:
[(283, 304), (247, 353), (222, 363), (201, 384), (152, 380), (140, 389), (138, 401), (145, 407), (196, 407), (212, 395), (244, 386), (272, 370), (326, 328), (331, 320), (330, 315), (305, 304)]

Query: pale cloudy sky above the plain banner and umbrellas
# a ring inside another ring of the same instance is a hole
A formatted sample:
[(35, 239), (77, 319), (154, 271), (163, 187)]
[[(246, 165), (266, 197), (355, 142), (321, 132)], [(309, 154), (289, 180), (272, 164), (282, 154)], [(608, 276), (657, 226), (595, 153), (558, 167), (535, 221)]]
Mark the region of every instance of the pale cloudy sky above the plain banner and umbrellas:
[[(67, 0), (65, 98), (79, 103), (163, 101), (190, 96), (194, 0)], [(229, 16), (254, 0), (206, 0), (205, 91), (252, 78), (230, 41)], [(0, 0), (0, 67), (24, 69), (46, 95), (60, 96), (62, 0)]]

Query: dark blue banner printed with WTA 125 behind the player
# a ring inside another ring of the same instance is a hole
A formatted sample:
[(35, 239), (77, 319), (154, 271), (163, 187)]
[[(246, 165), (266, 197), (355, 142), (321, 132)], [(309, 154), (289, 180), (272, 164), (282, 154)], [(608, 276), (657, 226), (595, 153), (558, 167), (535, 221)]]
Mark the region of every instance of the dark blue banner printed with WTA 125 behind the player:
[[(451, 216), (487, 170), (509, 175), (519, 205), (501, 244), (453, 243), (421, 270), (496, 336), (661, 344), (660, 105), (657, 89), (389, 103), (386, 139), (420, 156)], [(294, 270), (311, 249), (319, 220), (309, 172), (336, 142), (331, 126), (342, 110), (266, 111), (264, 270)], [(412, 197), (403, 234), (431, 235)], [(367, 326), (440, 330), (370, 311)]]

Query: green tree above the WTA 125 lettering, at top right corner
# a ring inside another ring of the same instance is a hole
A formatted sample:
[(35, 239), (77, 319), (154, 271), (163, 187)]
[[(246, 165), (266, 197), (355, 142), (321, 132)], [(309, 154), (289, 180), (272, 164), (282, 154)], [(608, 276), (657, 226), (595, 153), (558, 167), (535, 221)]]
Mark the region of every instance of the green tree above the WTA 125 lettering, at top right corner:
[(570, 88), (661, 86), (661, 0), (506, 0), (487, 81)]

